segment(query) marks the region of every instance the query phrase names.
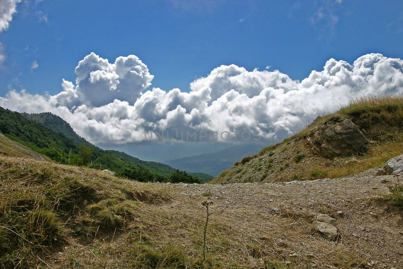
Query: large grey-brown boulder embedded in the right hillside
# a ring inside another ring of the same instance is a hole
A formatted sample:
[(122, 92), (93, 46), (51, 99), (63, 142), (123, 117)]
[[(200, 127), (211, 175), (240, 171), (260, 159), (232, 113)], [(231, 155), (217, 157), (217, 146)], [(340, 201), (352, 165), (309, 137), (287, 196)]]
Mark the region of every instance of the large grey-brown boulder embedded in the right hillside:
[(329, 157), (349, 156), (365, 150), (368, 139), (349, 119), (331, 119), (311, 129), (308, 141)]

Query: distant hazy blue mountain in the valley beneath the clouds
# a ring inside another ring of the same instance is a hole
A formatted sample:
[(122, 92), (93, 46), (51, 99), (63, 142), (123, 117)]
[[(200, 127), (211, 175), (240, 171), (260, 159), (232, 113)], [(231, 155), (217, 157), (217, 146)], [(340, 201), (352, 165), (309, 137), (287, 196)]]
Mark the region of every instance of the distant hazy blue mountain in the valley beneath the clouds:
[(240, 144), (216, 152), (163, 161), (162, 163), (188, 172), (197, 171), (216, 177), (220, 172), (232, 167), (235, 161), (258, 152), (262, 147), (261, 144)]

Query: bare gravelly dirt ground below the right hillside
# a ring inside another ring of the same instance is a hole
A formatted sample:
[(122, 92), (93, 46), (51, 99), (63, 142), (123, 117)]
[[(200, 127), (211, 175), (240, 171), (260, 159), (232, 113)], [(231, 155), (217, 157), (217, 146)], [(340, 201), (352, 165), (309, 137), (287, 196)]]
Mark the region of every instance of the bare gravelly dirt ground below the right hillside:
[[(231, 240), (243, 242), (232, 255), (245, 255), (249, 268), (262, 268), (267, 259), (307, 268), (403, 268), (402, 211), (379, 199), (399, 177), (375, 174), (263, 184), (161, 184), (178, 200), (158, 210), (202, 215), (200, 203), (212, 200), (212, 223), (226, 226)], [(335, 219), (334, 240), (318, 231), (320, 214)]]

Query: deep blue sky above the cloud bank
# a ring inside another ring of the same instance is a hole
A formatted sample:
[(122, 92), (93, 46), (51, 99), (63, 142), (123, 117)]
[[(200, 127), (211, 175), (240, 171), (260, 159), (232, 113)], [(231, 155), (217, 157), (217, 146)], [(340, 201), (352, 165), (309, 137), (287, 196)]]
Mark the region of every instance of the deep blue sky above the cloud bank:
[(151, 87), (187, 92), (220, 65), (301, 80), (329, 58), (401, 58), (403, 1), (23, 1), (0, 42), (0, 96), (56, 94), (90, 52), (112, 62), (135, 54), (155, 76)]

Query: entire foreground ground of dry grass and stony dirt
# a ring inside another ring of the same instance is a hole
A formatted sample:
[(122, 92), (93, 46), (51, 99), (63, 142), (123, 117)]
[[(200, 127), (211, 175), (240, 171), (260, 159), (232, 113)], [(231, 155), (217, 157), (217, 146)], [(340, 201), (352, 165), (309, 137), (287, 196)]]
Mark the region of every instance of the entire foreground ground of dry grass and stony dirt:
[[(387, 192), (379, 177), (307, 186), (145, 184), (96, 169), (4, 156), (0, 171), (0, 268), (303, 269), (314, 263), (347, 269), (366, 268), (372, 260), (367, 253), (385, 254), (377, 261), (388, 268), (401, 262), (401, 211), (357, 192)], [(214, 201), (214, 214), (202, 263), (206, 198)], [(337, 217), (339, 210), (348, 217)], [(337, 218), (343, 240), (329, 242), (316, 231), (320, 213)], [(361, 244), (368, 233), (357, 226), (371, 227), (386, 244), (372, 238)]]

